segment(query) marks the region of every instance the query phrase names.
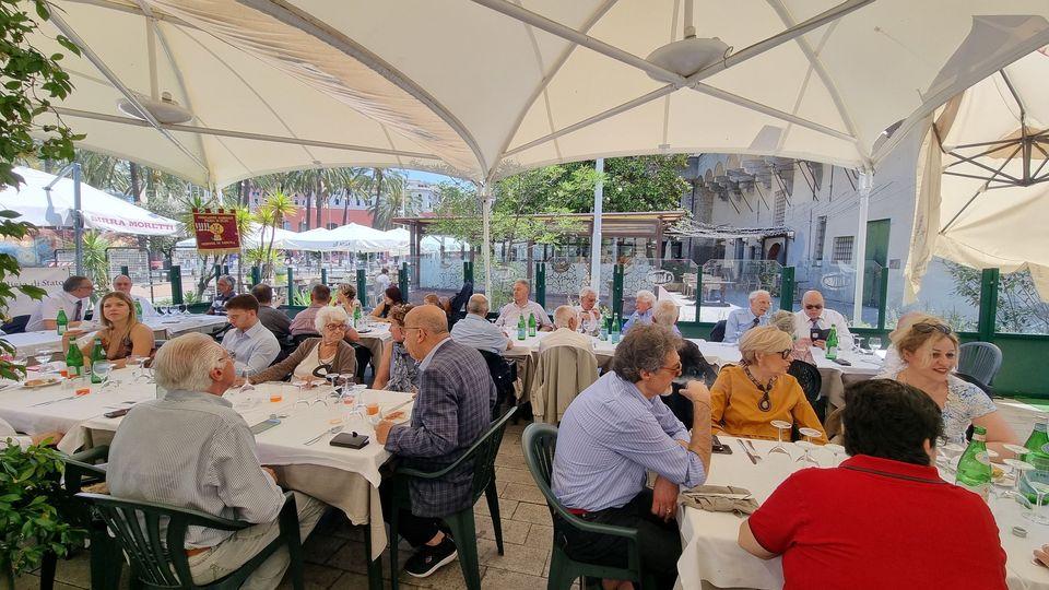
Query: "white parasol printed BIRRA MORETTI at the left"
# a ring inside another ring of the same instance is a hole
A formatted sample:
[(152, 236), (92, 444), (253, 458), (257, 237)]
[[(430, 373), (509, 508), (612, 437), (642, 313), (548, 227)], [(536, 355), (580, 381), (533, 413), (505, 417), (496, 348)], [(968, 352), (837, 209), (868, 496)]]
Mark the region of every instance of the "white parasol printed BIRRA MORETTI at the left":
[[(25, 179), (19, 188), (0, 190), (0, 209), (11, 209), (38, 227), (72, 227), (74, 205), (73, 181), (33, 168), (16, 166), (14, 173)], [(50, 190), (47, 189), (51, 182)], [(101, 232), (137, 236), (174, 236), (182, 224), (157, 215), (128, 201), (81, 184), (81, 215), (84, 227)]]

